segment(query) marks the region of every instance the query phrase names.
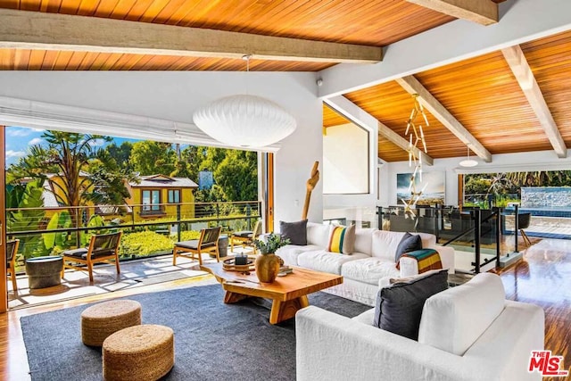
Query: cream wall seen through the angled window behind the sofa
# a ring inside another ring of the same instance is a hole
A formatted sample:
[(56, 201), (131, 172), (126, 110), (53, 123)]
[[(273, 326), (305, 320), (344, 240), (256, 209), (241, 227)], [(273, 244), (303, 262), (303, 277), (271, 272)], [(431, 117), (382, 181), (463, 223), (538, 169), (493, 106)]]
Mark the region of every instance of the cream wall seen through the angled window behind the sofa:
[(323, 136), (323, 193), (368, 193), (368, 132), (352, 123), (327, 128)]

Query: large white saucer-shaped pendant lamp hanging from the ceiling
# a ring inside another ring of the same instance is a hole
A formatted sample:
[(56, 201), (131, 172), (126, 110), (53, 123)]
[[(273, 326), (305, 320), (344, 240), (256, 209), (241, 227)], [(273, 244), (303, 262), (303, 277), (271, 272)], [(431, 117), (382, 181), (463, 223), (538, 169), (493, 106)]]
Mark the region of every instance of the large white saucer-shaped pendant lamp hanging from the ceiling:
[[(244, 55), (246, 76), (250, 55)], [(194, 112), (196, 127), (226, 145), (263, 147), (291, 135), (296, 122), (293, 115), (278, 104), (260, 96), (230, 95)]]

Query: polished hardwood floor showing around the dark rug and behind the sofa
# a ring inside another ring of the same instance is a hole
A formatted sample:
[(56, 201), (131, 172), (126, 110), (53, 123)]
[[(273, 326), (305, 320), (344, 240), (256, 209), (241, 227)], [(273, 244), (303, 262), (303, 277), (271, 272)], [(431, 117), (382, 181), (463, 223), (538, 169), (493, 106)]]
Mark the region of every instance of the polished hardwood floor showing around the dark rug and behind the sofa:
[[(507, 297), (520, 302), (532, 302), (545, 311), (545, 348), (564, 356), (565, 367), (571, 371), (571, 240), (544, 239), (525, 250), (524, 261), (498, 271)], [(210, 276), (187, 278), (132, 290), (89, 296), (47, 306), (0, 314), (0, 379), (29, 380), (26, 350), (21, 336), (21, 316), (54, 311), (88, 302), (111, 299), (128, 294), (140, 294), (195, 285), (196, 281), (212, 282)], [(571, 380), (571, 377), (567, 377)], [(554, 378), (562, 381), (563, 378)]]

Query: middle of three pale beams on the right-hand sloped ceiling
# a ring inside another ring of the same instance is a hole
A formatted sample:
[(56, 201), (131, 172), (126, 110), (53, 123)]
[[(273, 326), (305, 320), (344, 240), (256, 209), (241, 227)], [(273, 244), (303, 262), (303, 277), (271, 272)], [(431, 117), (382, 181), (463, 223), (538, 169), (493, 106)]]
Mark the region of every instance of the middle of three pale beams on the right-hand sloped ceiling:
[(476, 137), (468, 132), (462, 123), (460, 123), (454, 116), (449, 112), (446, 107), (443, 106), (434, 95), (422, 86), (418, 79), (414, 76), (407, 76), (401, 79), (396, 79), (399, 85), (404, 88), (409, 94), (418, 94), (418, 102), (420, 102), (426, 110), (434, 115), (434, 118), (440, 120), (444, 127), (450, 129), (451, 133), (459, 140), (468, 145), (473, 153), (482, 158), (484, 162), (492, 162), (492, 153), (490, 153), (482, 143), (479, 142)]

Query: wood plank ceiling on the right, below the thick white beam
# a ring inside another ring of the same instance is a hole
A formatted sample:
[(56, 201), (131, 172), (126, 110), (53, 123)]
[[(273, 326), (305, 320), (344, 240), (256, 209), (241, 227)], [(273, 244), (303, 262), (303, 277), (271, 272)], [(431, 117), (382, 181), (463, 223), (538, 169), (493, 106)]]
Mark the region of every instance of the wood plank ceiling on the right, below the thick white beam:
[[(571, 146), (571, 31), (521, 45), (559, 131)], [(539, 120), (500, 51), (426, 70), (415, 77), (492, 154), (552, 150)], [(403, 136), (412, 99), (396, 81), (344, 95)], [(425, 129), (433, 158), (461, 157), (466, 145), (429, 112)], [(328, 120), (334, 120), (331, 116)], [(330, 126), (330, 125), (329, 125)], [(326, 125), (326, 127), (329, 127)], [(407, 160), (383, 137), (379, 157)]]

